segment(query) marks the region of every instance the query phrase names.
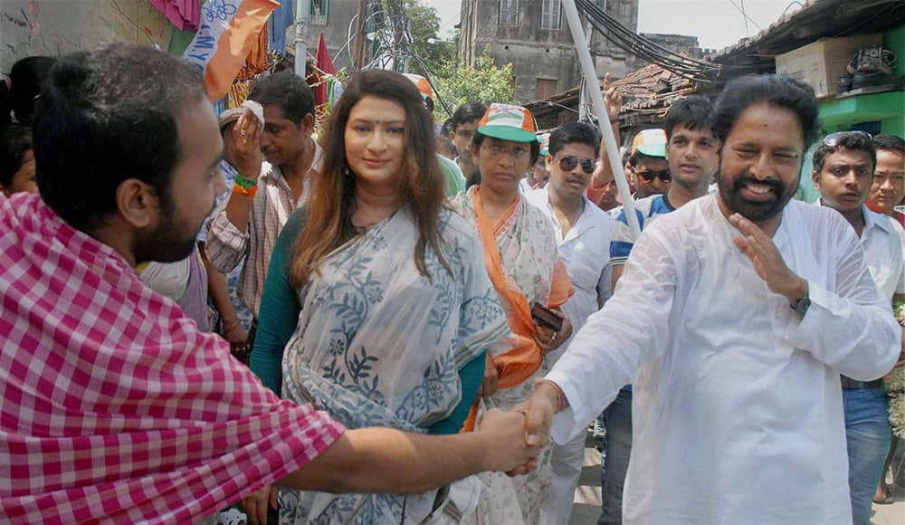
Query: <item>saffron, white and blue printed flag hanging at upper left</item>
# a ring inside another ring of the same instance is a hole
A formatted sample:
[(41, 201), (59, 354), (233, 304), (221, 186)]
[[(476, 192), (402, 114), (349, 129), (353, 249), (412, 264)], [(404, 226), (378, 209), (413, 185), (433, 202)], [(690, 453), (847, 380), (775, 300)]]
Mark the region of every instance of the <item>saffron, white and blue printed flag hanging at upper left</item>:
[(207, 0), (201, 6), (201, 25), (182, 56), (205, 72), (208, 99), (219, 100), (229, 91), (277, 7), (277, 0)]

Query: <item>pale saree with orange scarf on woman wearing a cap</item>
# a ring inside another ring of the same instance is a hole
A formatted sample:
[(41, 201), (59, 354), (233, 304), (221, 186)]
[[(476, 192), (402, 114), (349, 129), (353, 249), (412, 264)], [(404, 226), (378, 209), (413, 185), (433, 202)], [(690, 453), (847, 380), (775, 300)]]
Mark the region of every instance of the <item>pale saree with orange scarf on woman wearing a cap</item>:
[[(575, 292), (566, 267), (557, 253), (556, 234), (549, 219), (521, 196), (497, 224), (490, 224), (481, 207), (478, 186), (457, 199), (455, 205), (472, 224), (486, 252), (487, 271), (497, 284), (500, 302), (507, 310), (512, 333), (491, 347), (491, 356), (500, 373), (500, 389), (482, 401), (485, 409), (509, 410), (528, 398), (535, 381), (549, 371), (549, 361), (532, 339), (536, 333), (529, 305), (539, 302), (555, 308)], [(491, 237), (492, 234), (492, 237)], [(492, 239), (492, 245), (491, 244)], [(498, 284), (500, 283), (500, 284)], [(466, 523), (537, 523), (540, 508), (551, 497), (550, 447), (538, 457), (538, 470), (510, 478), (501, 472), (479, 474), (490, 490), (478, 510)]]

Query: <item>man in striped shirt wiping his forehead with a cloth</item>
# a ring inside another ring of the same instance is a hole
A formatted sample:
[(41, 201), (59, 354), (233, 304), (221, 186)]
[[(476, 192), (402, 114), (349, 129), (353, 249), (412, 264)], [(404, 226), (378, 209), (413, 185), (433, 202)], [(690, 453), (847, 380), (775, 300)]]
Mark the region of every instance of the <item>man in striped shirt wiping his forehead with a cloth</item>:
[(257, 319), (273, 246), (305, 203), (323, 151), (311, 138), (314, 95), (300, 76), (286, 71), (264, 77), (248, 98), (263, 106), (264, 124), (248, 111), (233, 125), (235, 184), (211, 221), (205, 253), (223, 273), (243, 264), (239, 299)]

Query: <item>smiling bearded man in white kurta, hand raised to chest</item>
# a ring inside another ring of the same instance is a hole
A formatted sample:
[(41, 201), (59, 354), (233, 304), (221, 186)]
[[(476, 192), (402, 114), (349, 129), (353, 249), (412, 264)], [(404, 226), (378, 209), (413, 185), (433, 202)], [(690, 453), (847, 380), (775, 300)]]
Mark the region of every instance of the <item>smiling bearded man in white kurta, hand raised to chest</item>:
[(852, 227), (790, 202), (816, 120), (801, 82), (730, 81), (710, 119), (719, 192), (645, 229), (515, 408), (567, 443), (633, 382), (625, 523), (852, 520), (839, 375), (888, 372), (901, 330)]

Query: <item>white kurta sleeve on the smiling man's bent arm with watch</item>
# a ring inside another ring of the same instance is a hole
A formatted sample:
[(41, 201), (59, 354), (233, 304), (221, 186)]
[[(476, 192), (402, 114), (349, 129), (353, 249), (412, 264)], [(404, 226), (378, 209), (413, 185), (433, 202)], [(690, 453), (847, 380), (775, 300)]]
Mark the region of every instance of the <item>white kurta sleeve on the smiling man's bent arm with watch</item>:
[(789, 325), (786, 339), (847, 377), (882, 377), (899, 356), (902, 332), (853, 233), (840, 235), (835, 272), (835, 291), (808, 281), (811, 308)]

